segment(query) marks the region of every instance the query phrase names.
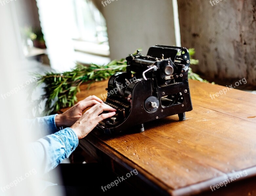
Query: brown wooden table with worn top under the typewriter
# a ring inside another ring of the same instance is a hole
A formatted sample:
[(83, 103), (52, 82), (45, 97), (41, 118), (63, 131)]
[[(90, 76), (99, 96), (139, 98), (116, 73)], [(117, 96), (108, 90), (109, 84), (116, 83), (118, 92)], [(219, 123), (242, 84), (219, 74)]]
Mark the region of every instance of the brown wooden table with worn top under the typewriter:
[[(256, 195), (256, 95), (232, 89), (211, 99), (225, 87), (192, 80), (189, 86), (186, 121), (174, 115), (118, 136), (94, 130), (80, 146), (119, 176), (136, 169), (126, 182), (147, 195)], [(100, 97), (106, 87), (107, 81), (84, 85), (78, 99)]]

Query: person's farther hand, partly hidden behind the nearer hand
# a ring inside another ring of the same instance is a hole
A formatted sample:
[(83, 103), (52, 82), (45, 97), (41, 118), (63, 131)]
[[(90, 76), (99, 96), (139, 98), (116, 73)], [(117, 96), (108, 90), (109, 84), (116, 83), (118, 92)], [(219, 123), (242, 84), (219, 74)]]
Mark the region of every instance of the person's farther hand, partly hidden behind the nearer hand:
[(55, 117), (55, 124), (57, 127), (70, 127), (83, 115), (83, 111), (86, 108), (100, 103), (103, 103), (100, 98), (95, 95), (89, 96), (83, 101), (76, 103), (63, 114), (57, 115)]

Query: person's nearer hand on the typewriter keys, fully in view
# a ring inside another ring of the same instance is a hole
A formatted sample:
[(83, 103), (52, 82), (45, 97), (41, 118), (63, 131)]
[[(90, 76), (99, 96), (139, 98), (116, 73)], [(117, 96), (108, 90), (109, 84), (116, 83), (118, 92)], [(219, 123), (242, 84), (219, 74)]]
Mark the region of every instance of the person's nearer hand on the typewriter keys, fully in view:
[[(101, 114), (103, 111), (109, 111), (109, 113)], [(105, 103), (96, 104), (87, 110), (70, 128), (75, 131), (78, 139), (82, 139), (87, 136), (100, 121), (115, 115), (115, 111), (116, 109)]]

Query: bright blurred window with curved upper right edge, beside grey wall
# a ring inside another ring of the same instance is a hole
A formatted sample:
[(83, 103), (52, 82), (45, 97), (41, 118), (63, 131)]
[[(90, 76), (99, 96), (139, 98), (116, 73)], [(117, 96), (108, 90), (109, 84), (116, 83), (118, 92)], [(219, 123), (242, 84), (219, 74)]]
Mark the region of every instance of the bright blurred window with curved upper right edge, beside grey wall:
[(109, 56), (106, 21), (90, 0), (73, 0), (75, 51)]

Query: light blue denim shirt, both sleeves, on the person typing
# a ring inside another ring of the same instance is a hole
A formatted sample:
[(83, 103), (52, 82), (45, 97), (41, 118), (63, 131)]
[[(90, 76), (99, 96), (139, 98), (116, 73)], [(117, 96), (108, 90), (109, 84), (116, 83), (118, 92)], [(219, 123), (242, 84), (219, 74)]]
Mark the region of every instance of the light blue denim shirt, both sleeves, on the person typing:
[(78, 146), (78, 137), (71, 128), (58, 130), (55, 115), (29, 120), (30, 128), (35, 128), (40, 136), (44, 136), (29, 144), (29, 152), (35, 165), (45, 174), (60, 164)]

